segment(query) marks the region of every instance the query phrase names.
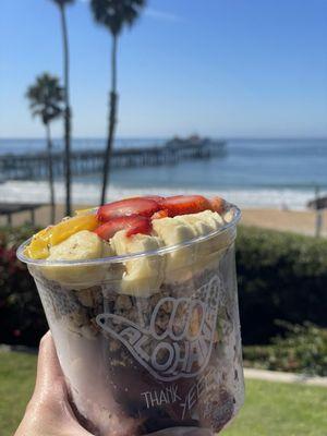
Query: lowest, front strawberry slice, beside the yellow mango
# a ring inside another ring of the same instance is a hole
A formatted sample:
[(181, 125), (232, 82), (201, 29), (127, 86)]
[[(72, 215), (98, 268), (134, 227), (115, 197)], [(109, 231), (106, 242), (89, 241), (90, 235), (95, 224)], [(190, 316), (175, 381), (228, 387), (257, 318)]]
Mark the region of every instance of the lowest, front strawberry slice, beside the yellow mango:
[(132, 215), (129, 217), (116, 217), (98, 227), (94, 232), (105, 241), (109, 241), (119, 230), (126, 230), (126, 235), (135, 233), (149, 234), (152, 222), (149, 218)]

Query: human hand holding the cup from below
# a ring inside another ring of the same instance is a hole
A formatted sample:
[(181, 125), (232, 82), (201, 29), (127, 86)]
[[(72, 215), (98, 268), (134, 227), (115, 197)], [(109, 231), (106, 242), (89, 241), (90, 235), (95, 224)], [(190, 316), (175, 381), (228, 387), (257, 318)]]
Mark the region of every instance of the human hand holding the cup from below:
[[(148, 436), (210, 436), (206, 429), (169, 428)], [(94, 436), (78, 423), (57, 358), (51, 334), (40, 341), (34, 393), (14, 436)]]

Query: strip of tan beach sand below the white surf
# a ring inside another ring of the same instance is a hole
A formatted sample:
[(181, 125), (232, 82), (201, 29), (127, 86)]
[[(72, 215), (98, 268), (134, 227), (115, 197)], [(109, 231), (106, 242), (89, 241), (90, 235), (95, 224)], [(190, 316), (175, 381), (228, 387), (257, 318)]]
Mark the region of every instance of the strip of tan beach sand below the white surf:
[[(74, 206), (75, 209), (85, 209), (87, 206)], [(64, 206), (57, 205), (57, 220), (64, 216)], [(242, 209), (242, 220), (244, 226), (257, 226), (266, 229), (284, 230), (295, 233), (315, 234), (316, 214), (312, 210), (280, 210), (280, 209)], [(12, 225), (20, 226), (31, 221), (29, 213), (20, 213), (12, 216)], [(35, 221), (37, 226), (45, 227), (49, 225), (49, 206), (43, 206), (35, 213)], [(0, 217), (0, 226), (7, 223), (7, 218)], [(323, 214), (323, 231), (322, 234), (327, 237), (327, 210)]]

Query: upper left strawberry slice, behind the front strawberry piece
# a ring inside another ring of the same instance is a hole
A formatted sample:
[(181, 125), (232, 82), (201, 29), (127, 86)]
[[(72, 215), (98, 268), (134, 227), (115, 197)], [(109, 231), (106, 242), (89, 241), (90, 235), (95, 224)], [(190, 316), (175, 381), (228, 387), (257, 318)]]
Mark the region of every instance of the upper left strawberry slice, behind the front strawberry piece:
[(150, 198), (126, 198), (120, 202), (108, 203), (99, 207), (97, 216), (99, 221), (106, 222), (117, 217), (126, 217), (131, 215), (141, 215), (142, 217), (150, 217), (155, 211), (159, 210), (157, 202)]

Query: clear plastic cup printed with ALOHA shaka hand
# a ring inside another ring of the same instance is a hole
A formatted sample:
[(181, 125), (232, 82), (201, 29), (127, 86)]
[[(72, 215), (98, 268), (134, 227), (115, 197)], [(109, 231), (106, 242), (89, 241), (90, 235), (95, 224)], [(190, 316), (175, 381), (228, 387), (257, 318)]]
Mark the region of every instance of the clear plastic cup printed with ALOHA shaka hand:
[(83, 425), (100, 436), (218, 433), (243, 403), (234, 239), (240, 210), (205, 237), (33, 275)]

